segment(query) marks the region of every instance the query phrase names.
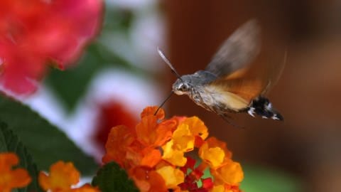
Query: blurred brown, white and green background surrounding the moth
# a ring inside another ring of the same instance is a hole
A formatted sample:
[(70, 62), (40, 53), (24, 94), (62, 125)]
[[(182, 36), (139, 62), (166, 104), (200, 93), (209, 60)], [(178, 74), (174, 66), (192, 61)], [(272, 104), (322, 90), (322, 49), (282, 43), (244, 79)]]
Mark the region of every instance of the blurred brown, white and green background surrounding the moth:
[(102, 33), (79, 63), (51, 70), (24, 102), (100, 160), (111, 127), (134, 126), (171, 91), (176, 78), (157, 46), (178, 73), (194, 73), (250, 18), (261, 23), (267, 62), (288, 51), (268, 95), (284, 122), (232, 114), (238, 129), (185, 96), (171, 97), (166, 114), (200, 117), (227, 142), (244, 191), (341, 191), (341, 1), (107, 0)]

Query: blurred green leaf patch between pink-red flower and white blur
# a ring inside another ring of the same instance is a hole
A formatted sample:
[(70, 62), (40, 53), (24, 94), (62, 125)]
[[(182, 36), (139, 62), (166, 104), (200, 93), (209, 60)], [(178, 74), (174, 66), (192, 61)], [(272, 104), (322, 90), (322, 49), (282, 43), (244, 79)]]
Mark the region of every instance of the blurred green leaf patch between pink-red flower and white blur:
[(112, 53), (100, 43), (93, 43), (80, 61), (72, 66), (73, 68), (63, 71), (53, 69), (46, 82), (53, 88), (55, 95), (63, 100), (68, 110), (73, 110), (77, 101), (85, 94), (94, 75), (102, 68), (114, 65), (113, 63), (131, 68), (119, 55)]

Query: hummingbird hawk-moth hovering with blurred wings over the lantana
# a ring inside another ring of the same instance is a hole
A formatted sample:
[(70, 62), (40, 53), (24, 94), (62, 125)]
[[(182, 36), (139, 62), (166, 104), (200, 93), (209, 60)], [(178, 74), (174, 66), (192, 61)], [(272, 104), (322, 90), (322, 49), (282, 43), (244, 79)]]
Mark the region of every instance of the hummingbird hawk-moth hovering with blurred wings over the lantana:
[(205, 70), (190, 75), (180, 76), (158, 49), (161, 58), (178, 77), (172, 93), (188, 95), (197, 105), (225, 120), (230, 112), (247, 112), (252, 117), (257, 114), (266, 119), (283, 120), (265, 97), (278, 80), (283, 65), (277, 66), (279, 73), (276, 75), (251, 75), (249, 64), (259, 54), (260, 33), (256, 20), (244, 23), (222, 43)]

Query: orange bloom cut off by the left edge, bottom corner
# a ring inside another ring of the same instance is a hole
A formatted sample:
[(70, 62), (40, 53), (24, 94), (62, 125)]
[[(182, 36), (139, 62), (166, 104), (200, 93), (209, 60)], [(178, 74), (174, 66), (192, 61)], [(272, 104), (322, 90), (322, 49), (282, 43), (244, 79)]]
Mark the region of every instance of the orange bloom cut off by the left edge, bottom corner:
[(31, 183), (31, 177), (25, 169), (12, 169), (18, 162), (16, 154), (0, 154), (0, 191), (10, 192), (13, 188), (22, 188)]

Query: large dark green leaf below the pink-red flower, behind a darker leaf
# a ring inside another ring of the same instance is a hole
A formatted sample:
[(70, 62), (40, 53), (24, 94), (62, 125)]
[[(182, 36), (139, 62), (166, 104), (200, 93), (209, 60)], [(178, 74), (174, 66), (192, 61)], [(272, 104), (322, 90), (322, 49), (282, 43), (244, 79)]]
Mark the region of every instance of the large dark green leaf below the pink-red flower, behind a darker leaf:
[(56, 161), (72, 161), (82, 174), (94, 174), (97, 164), (84, 154), (65, 133), (27, 106), (0, 97), (0, 120), (16, 132), (39, 170), (48, 170)]

